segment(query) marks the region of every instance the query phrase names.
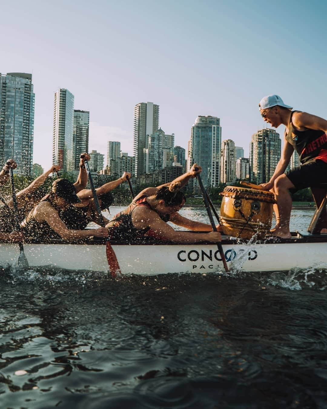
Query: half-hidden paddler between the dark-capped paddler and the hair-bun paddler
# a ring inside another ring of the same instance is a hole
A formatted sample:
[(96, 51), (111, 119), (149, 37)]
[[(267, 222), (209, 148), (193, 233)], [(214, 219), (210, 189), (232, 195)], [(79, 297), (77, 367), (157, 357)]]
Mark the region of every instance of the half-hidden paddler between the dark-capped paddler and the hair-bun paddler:
[[(107, 209), (109, 211), (109, 207), (114, 200), (110, 192), (116, 189), (116, 187), (118, 187), (121, 183), (126, 182), (127, 177), (130, 178), (131, 174), (129, 172), (124, 172), (119, 179), (105, 183), (95, 189), (101, 210)], [(69, 206), (62, 213), (61, 217), (66, 226), (69, 229), (83, 230), (90, 222), (99, 224), (99, 216), (94, 203), (92, 190), (83, 189), (77, 193), (77, 197), (80, 202)], [(102, 218), (105, 224), (109, 222), (105, 216), (102, 215)]]

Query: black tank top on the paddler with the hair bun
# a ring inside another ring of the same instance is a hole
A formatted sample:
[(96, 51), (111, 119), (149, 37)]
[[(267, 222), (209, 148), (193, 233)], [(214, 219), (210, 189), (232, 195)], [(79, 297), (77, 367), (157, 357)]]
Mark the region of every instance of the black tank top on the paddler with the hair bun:
[[(144, 227), (143, 229), (137, 229), (134, 227), (132, 222), (132, 211), (139, 206), (146, 206), (148, 209), (152, 209), (150, 204), (146, 201), (147, 196), (141, 196), (137, 200), (133, 200), (133, 202), (123, 211), (119, 212), (114, 216), (113, 220), (110, 220), (107, 227), (109, 229), (109, 236), (113, 240), (126, 240), (126, 241), (136, 241), (140, 239), (144, 239), (145, 236), (152, 236), (155, 238), (161, 238), (156, 236), (154, 233), (151, 233), (150, 227)], [(155, 210), (154, 210), (155, 211)], [(158, 213), (159, 214), (159, 213)], [(159, 217), (164, 220), (164, 222), (169, 221), (169, 214), (167, 215), (160, 215)]]

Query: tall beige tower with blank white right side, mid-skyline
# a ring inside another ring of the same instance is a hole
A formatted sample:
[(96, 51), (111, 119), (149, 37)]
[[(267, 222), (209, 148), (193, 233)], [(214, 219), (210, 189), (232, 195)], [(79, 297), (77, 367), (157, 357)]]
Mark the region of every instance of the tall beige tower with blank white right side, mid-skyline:
[(140, 102), (134, 107), (133, 148), (135, 156), (135, 173), (142, 175), (144, 168), (144, 149), (148, 148), (147, 135), (159, 129), (159, 105), (152, 102)]

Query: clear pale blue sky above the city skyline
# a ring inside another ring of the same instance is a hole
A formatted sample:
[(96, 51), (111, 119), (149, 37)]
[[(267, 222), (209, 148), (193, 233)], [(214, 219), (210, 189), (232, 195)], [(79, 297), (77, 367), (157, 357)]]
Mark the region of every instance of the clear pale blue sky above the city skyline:
[(246, 156), (264, 95), (327, 118), (325, 1), (18, 0), (1, 13), (0, 72), (33, 74), (34, 162), (45, 168), (58, 88), (90, 111), (89, 148), (101, 153), (118, 140), (132, 155), (139, 102), (159, 104), (159, 125), (184, 148), (197, 115), (219, 117)]

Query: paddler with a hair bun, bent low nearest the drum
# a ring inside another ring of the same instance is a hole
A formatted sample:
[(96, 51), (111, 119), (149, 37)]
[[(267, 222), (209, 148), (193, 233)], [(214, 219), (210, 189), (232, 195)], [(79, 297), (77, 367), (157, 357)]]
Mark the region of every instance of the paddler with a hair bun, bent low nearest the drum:
[[(195, 171), (195, 168), (197, 170)], [(196, 222), (181, 216), (178, 212), (186, 202), (180, 190), (190, 178), (195, 178), (202, 168), (194, 164), (189, 172), (179, 176), (170, 184), (149, 187), (141, 191), (132, 203), (116, 214), (106, 227), (109, 236), (115, 240), (142, 240), (145, 237), (157, 238), (175, 243), (201, 243), (205, 241), (217, 243), (221, 241), (219, 232), (212, 231), (211, 225)], [(207, 233), (176, 231), (167, 222)]]

